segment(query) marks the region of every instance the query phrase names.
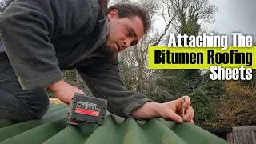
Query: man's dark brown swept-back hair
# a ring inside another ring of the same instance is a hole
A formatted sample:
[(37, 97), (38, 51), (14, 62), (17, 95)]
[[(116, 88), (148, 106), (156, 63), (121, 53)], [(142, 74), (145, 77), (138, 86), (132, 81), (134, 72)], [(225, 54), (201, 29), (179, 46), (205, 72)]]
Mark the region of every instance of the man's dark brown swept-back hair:
[(114, 9), (118, 10), (118, 18), (132, 18), (134, 16), (138, 16), (138, 18), (142, 20), (145, 34), (150, 29), (151, 19), (148, 10), (145, 8), (128, 3), (119, 3), (114, 6), (110, 6), (107, 10), (107, 14)]

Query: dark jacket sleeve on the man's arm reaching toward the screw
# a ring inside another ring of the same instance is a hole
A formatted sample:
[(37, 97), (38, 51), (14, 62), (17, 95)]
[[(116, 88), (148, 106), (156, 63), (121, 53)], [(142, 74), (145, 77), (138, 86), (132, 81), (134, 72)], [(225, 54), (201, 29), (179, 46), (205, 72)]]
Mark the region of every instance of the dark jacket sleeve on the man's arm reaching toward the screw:
[(108, 110), (112, 114), (134, 118), (129, 115), (132, 110), (145, 102), (152, 102), (145, 95), (126, 89), (119, 74), (118, 62), (80, 67), (77, 70), (94, 96), (107, 100)]

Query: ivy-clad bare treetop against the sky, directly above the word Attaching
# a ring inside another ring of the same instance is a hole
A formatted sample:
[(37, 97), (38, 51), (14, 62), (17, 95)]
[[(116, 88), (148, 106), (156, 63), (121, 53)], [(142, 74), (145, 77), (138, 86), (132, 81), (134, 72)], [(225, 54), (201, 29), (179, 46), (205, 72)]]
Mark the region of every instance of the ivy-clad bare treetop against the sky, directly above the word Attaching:
[(163, 0), (170, 5), (176, 17), (172, 21), (177, 33), (195, 35), (201, 26), (214, 22), (214, 14), (218, 7), (210, 4), (209, 0)]

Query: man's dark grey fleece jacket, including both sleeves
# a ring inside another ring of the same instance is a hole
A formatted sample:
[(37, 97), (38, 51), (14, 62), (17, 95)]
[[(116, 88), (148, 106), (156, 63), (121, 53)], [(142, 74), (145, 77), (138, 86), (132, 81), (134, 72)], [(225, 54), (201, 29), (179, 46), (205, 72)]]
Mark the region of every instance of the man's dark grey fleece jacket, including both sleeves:
[(77, 69), (94, 95), (108, 100), (110, 112), (129, 117), (150, 99), (126, 90), (118, 59), (102, 55), (98, 47), (107, 33), (97, 0), (15, 0), (0, 17), (2, 41), (24, 90), (48, 86), (62, 79), (62, 70)]

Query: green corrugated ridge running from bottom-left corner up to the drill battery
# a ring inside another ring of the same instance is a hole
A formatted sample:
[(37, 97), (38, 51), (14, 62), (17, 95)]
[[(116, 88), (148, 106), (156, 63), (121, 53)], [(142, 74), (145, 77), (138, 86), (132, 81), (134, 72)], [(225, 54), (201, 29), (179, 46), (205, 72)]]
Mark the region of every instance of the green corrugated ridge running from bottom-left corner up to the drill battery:
[(67, 109), (58, 110), (52, 114), (46, 115), (42, 119), (32, 120), (27, 122), (20, 122), (11, 126), (6, 126), (0, 129), (0, 142), (11, 138), (17, 134), (21, 134), (26, 130), (30, 130), (36, 126), (40, 126), (46, 122), (54, 121), (56, 118), (60, 118), (63, 115), (67, 114)]

